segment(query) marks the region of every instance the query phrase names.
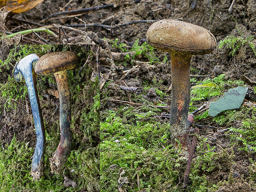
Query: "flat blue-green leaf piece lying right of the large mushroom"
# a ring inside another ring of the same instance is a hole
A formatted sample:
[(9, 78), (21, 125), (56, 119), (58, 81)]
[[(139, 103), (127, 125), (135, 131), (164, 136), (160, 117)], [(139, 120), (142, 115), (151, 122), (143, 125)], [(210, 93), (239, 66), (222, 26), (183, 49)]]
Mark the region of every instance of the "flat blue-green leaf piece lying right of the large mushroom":
[(221, 111), (238, 109), (244, 100), (247, 90), (247, 87), (240, 86), (234, 89), (229, 89), (228, 92), (225, 92), (224, 97), (221, 97), (216, 102), (211, 102), (209, 106), (209, 115), (214, 117)]

